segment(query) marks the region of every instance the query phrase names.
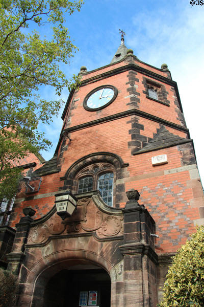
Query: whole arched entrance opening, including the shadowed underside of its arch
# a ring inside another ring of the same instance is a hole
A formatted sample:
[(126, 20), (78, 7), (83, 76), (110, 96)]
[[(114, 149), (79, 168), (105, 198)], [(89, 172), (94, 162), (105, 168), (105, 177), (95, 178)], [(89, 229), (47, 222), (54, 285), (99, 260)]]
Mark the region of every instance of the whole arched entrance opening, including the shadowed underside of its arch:
[(58, 262), (36, 280), (33, 306), (111, 306), (111, 278), (106, 270), (82, 259)]

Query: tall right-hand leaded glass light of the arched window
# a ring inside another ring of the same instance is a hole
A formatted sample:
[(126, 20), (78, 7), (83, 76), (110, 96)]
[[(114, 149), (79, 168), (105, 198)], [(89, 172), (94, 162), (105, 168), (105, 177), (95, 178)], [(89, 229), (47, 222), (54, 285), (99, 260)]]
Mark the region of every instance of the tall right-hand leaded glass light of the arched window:
[(98, 190), (103, 201), (108, 206), (113, 206), (113, 173), (105, 173), (98, 177)]

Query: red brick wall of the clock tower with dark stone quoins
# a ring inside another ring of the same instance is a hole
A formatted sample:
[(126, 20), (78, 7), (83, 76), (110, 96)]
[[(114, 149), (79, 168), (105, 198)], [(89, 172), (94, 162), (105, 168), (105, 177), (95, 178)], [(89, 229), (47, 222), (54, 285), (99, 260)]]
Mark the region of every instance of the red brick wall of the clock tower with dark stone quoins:
[[(103, 73), (130, 62), (158, 75), (155, 78), (165, 88), (168, 105), (146, 97), (145, 79), (155, 80), (148, 72), (121, 71), (103, 77)], [(172, 144), (134, 155), (135, 150), (144, 149), (154, 139), (161, 125), (184, 140), (189, 137), (178, 103), (179, 97), (176, 96), (176, 85), (172, 86), (169, 79), (169, 72), (150, 67), (132, 56), (84, 75), (82, 81), (86, 83), (82, 82), (79, 91), (73, 95), (67, 108), (69, 117), (65, 116), (64, 119), (69, 138), (64, 135), (60, 141), (63, 146), (58, 147), (59, 172), (42, 176), (38, 193), (18, 199), (10, 225), (14, 226), (18, 222), (23, 207), (32, 206), (37, 211), (36, 218), (46, 214), (54, 206), (55, 193), (66, 186), (67, 169), (86, 155), (105, 151), (118, 155), (124, 163), (129, 164), (122, 177), (114, 182), (123, 185), (119, 206), (124, 207), (126, 203), (124, 191), (134, 188), (140, 192), (140, 204), (144, 204), (156, 221), (156, 232), (160, 236), (155, 239), (157, 253), (175, 252), (184, 244), (189, 234), (195, 231), (195, 225), (202, 223), (204, 217), (203, 193), (192, 143)], [(95, 87), (104, 84), (117, 87), (117, 98), (100, 111), (86, 111), (83, 107), (84, 97)], [(141, 113), (128, 113), (132, 109)], [(127, 113), (110, 118), (123, 112)], [(106, 120), (98, 121), (103, 118)], [(95, 124), (89, 124), (91, 121), (95, 121)], [(87, 123), (86, 127), (84, 123)], [(151, 157), (164, 154), (167, 155), (168, 163), (152, 166)]]

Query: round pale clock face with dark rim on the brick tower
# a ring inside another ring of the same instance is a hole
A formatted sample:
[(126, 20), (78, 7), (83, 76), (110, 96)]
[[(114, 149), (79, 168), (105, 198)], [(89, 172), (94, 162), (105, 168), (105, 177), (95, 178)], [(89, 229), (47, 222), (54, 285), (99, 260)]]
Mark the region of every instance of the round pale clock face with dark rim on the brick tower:
[(112, 85), (96, 87), (84, 99), (84, 107), (88, 111), (97, 111), (109, 105), (117, 96), (117, 89)]

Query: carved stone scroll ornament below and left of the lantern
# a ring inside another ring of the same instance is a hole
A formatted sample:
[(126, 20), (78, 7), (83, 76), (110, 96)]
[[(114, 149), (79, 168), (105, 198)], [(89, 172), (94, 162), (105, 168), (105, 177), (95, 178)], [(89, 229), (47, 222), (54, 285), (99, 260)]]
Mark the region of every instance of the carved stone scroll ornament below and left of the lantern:
[(45, 223), (31, 228), (28, 244), (43, 243), (50, 235), (59, 235), (65, 230), (61, 218), (55, 213)]

